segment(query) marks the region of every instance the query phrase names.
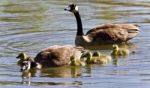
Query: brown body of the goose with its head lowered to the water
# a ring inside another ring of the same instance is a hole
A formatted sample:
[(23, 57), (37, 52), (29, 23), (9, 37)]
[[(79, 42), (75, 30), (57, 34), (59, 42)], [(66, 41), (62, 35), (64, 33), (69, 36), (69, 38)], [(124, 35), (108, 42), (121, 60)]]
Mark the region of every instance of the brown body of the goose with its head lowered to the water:
[(42, 67), (69, 65), (70, 57), (76, 52), (80, 54), (82, 49), (72, 46), (52, 46), (39, 52), (35, 61), (40, 63)]

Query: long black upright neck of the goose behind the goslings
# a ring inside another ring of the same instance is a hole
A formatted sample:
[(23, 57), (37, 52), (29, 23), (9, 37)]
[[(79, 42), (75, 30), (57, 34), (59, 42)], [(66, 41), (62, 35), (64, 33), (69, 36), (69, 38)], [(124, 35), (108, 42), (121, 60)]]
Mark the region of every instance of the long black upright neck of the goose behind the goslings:
[(79, 12), (74, 13), (77, 21), (77, 34), (78, 36), (84, 35), (83, 34), (83, 28), (82, 28), (82, 21)]

